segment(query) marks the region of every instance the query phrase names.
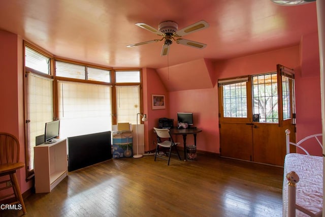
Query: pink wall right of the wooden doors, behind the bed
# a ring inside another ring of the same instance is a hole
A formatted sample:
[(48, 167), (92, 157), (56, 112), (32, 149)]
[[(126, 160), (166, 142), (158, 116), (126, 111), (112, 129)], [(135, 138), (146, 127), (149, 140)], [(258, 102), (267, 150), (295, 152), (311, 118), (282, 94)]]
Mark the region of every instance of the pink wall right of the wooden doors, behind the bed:
[[(301, 39), (301, 75), (296, 79), (297, 95), (297, 133), (299, 141), (306, 136), (321, 133), (321, 95), (320, 67), (317, 33), (309, 34)], [(306, 144), (312, 155), (322, 156), (319, 145)], [(297, 150), (297, 152), (302, 152)]]

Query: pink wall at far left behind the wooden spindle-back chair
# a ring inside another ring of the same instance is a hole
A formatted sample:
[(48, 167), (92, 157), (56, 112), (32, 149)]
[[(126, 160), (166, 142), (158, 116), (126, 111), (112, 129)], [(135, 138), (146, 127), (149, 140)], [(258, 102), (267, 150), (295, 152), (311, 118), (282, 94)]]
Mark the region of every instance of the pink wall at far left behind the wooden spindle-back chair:
[[(15, 135), (20, 143), (20, 161), (25, 162), (22, 39), (0, 30), (0, 132)], [(26, 183), (25, 168), (17, 171), (21, 192), (31, 187)]]

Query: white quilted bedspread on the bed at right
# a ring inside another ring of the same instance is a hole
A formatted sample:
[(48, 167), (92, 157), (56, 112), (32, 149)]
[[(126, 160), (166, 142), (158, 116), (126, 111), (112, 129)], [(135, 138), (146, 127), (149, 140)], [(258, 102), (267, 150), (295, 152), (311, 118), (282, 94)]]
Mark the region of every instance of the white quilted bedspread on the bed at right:
[[(286, 174), (295, 171), (300, 178), (297, 183), (296, 203), (313, 213), (322, 209), (322, 157), (307, 156), (305, 154), (289, 153), (284, 160), (283, 174), (283, 216), (287, 216), (288, 182)], [(296, 209), (296, 216), (309, 216)]]

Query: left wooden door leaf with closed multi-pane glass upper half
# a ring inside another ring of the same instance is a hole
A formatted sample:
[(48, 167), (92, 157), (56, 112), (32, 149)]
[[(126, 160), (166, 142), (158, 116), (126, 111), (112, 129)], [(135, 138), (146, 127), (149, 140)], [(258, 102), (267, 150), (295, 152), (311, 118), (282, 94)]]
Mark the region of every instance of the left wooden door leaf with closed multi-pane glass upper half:
[[(223, 157), (252, 160), (253, 141), (249, 77), (219, 81), (220, 154)], [(247, 124), (248, 123), (248, 124)]]

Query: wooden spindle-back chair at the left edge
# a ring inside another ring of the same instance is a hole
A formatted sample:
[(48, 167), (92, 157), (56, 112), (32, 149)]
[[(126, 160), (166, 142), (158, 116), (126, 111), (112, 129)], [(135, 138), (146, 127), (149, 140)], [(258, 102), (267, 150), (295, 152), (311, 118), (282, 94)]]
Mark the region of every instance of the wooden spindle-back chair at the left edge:
[[(16, 201), (10, 203), (21, 204), (21, 208), (23, 213), (26, 213), (25, 204), (20, 192), (19, 184), (16, 177), (16, 170), (23, 168), (25, 166), (24, 163), (19, 162), (19, 141), (18, 139), (9, 134), (9, 133), (1, 133), (0, 132), (0, 177), (9, 175), (10, 179), (0, 181), (0, 191), (6, 189), (13, 189), (13, 193), (6, 194), (4, 196), (0, 196), (0, 201), (7, 199), (11, 200), (11, 197), (14, 195)], [(8, 181), (11, 181), (11, 185), (7, 186)], [(3, 185), (5, 185), (3, 187)], [(3, 202), (2, 202), (3, 203)]]

